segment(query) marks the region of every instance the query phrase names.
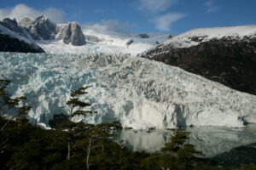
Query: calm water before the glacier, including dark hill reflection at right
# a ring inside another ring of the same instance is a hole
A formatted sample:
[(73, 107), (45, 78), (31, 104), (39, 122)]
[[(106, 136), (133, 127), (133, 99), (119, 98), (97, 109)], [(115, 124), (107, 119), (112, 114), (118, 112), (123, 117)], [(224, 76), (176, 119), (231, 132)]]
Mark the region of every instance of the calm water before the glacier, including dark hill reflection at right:
[[(194, 144), (205, 158), (221, 166), (256, 163), (256, 125), (243, 128), (186, 127), (189, 144)], [(114, 141), (134, 151), (159, 152), (173, 135), (171, 130), (119, 130)]]

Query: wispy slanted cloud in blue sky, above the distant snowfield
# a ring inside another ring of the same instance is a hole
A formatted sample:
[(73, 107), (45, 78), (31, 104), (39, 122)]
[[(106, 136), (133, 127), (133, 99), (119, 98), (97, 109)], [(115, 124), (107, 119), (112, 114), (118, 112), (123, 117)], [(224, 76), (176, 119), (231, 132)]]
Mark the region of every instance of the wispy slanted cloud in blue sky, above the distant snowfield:
[(185, 14), (168, 13), (155, 17), (152, 22), (159, 31), (170, 31), (172, 24), (183, 17), (185, 17)]

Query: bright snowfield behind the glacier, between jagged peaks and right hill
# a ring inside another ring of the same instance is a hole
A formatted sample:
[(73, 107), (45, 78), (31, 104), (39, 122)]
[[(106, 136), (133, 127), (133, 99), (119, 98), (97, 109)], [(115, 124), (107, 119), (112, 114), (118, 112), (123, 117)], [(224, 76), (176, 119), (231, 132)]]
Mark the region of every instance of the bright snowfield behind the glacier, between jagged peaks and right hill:
[[(148, 38), (138, 37), (137, 34), (117, 33), (117, 32), (97, 32), (84, 30), (86, 37), (96, 37), (99, 42), (88, 42), (84, 46), (74, 47), (61, 41), (38, 41), (38, 45), (50, 54), (87, 54), (87, 53), (111, 53), (111, 54), (131, 54), (136, 56), (149, 48), (154, 48), (156, 42), (164, 42), (168, 38), (167, 34), (148, 33)], [(126, 42), (133, 40), (127, 47)]]

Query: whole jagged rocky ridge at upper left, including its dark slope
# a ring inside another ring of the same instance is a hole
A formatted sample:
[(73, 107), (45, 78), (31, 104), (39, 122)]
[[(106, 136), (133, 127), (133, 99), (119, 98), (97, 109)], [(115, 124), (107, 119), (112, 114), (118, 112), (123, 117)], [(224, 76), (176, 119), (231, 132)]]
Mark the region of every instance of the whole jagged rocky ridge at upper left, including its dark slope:
[(35, 20), (24, 18), (18, 23), (15, 19), (0, 21), (0, 51), (21, 53), (44, 53), (35, 41), (63, 40), (73, 46), (85, 45), (83, 31), (77, 22), (65, 25), (55, 24), (44, 16)]

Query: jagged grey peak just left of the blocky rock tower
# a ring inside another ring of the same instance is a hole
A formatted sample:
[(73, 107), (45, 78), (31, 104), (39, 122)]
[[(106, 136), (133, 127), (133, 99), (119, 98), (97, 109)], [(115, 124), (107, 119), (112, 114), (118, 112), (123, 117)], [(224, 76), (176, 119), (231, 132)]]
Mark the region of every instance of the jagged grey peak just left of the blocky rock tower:
[[(30, 25), (28, 26), (28, 24)], [(31, 20), (22, 20), (20, 26), (22, 25), (26, 26), (35, 40), (52, 40), (55, 38), (55, 24), (43, 15), (39, 16), (33, 22)]]

